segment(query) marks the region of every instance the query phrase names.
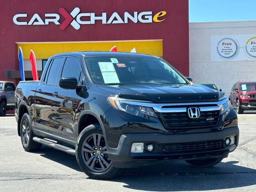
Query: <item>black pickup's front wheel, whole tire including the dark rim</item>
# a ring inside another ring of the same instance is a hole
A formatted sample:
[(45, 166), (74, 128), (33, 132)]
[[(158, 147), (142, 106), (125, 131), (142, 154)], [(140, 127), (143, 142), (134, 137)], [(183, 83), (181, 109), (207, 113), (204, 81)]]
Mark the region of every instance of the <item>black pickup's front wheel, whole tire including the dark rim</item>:
[(119, 169), (108, 158), (100, 124), (89, 125), (79, 134), (76, 141), (76, 160), (90, 178), (107, 180), (118, 175)]

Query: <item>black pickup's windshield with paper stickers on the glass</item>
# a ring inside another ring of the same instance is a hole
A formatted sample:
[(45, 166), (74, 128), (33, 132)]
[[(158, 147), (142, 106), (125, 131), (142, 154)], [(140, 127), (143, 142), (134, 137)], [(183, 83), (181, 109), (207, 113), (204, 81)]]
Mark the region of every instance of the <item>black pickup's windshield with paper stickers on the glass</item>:
[(96, 84), (187, 84), (169, 64), (147, 56), (92, 56), (86, 65)]

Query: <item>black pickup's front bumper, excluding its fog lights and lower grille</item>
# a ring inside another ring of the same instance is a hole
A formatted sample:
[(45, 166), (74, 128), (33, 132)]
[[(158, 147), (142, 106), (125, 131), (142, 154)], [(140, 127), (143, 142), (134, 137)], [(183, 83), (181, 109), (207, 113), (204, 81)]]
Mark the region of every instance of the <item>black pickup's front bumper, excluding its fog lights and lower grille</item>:
[[(177, 144), (224, 140), (226, 137), (236, 135), (235, 144), (224, 146), (220, 150), (193, 151), (186, 153), (160, 154), (156, 152), (130, 153), (133, 142)], [(133, 133), (122, 134), (118, 148), (108, 148), (108, 157), (113, 166), (118, 168), (130, 168), (147, 166), (159, 160), (190, 160), (197, 158), (227, 157), (229, 152), (236, 149), (239, 139), (238, 127), (226, 128), (216, 132), (204, 132), (193, 134), (160, 134), (160, 133)]]

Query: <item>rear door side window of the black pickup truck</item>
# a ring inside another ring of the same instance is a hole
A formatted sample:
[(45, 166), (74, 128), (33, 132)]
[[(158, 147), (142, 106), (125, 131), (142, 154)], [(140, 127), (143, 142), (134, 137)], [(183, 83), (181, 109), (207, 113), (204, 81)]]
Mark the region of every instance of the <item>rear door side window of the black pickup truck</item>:
[(58, 72), (60, 70), (61, 64), (62, 64), (62, 60), (63, 58), (55, 58), (50, 66), (50, 69), (48, 69), (46, 74), (46, 84), (47, 85), (51, 85), (51, 86), (55, 86), (56, 85), (56, 81), (57, 81), (57, 77), (58, 77)]

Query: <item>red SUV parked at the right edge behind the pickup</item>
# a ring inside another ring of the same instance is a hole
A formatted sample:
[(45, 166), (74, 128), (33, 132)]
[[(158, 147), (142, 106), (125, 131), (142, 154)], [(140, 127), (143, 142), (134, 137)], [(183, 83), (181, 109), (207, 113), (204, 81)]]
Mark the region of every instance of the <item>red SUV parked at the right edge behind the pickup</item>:
[(229, 100), (238, 114), (242, 114), (244, 110), (256, 110), (256, 82), (235, 83)]

